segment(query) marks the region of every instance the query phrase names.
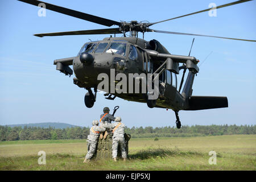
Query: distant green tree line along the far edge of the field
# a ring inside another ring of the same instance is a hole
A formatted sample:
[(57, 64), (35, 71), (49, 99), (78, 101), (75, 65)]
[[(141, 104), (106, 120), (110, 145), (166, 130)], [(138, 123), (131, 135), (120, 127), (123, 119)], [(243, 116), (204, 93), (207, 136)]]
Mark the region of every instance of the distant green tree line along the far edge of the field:
[[(53, 127), (9, 127), (0, 126), (0, 141), (10, 140), (49, 140), (49, 139), (87, 139), (89, 127), (55, 129)], [(197, 137), (212, 135), (256, 134), (256, 125), (209, 125), (176, 127), (126, 127), (125, 132), (132, 138), (142, 137)]]

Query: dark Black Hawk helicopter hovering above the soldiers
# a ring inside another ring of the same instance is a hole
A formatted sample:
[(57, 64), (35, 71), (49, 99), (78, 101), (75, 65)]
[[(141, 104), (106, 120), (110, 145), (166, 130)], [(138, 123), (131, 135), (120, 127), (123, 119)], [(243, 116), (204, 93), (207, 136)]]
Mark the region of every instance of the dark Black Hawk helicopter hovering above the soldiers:
[[(78, 55), (75, 57), (68, 57), (64, 59), (57, 59), (54, 61), (56, 69), (65, 75), (71, 76), (73, 71), (75, 72), (75, 78), (73, 83), (80, 88), (85, 88), (88, 92), (85, 94), (86, 107), (93, 107), (96, 101), (96, 94), (98, 84), (101, 82), (98, 80), (100, 73), (106, 73), (111, 77), (110, 69), (115, 69), (114, 76), (118, 73), (129, 75), (129, 73), (158, 73), (159, 78), (159, 96), (155, 100), (148, 99), (148, 92), (146, 93), (106, 93), (104, 94), (107, 99), (114, 100), (115, 97), (123, 98), (128, 101), (144, 102), (148, 107), (160, 107), (164, 109), (172, 109), (176, 115), (176, 126), (181, 127), (178, 112), (179, 110), (203, 110), (214, 109), (221, 107), (228, 107), (228, 99), (226, 97), (213, 97), (213, 96), (192, 96), (192, 85), (196, 73), (199, 72), (197, 63), (199, 60), (196, 57), (183, 55), (172, 55), (167, 49), (160, 44), (157, 40), (150, 41), (144, 40), (145, 32), (159, 32), (164, 34), (178, 34), (178, 35), (193, 35), (193, 36), (207, 36), (212, 38), (242, 40), (249, 42), (256, 42), (256, 40), (225, 38), (220, 36), (200, 35), (200, 34), (187, 34), (181, 32), (170, 32), (153, 30), (150, 26), (166, 22), (169, 20), (182, 18), (197, 13), (209, 11), (211, 9), (205, 9), (196, 11), (175, 18), (162, 20), (159, 22), (137, 22), (133, 20), (131, 22), (116, 22), (114, 20), (101, 18), (79, 11), (67, 9), (52, 5), (42, 1), (36, 0), (18, 0), (29, 3), (31, 5), (38, 6), (40, 3), (44, 3), (45, 8), (48, 10), (56, 11), (65, 15), (73, 16), (87, 20), (89, 22), (102, 24), (104, 26), (118, 26), (117, 28), (105, 28), (98, 30), (82, 30), (82, 31), (68, 31), (68, 32), (54, 32), (47, 34), (35, 34), (35, 36), (60, 36), (60, 35), (92, 35), (92, 34), (114, 34), (114, 37), (110, 36), (96, 42), (88, 42), (82, 46)], [(247, 0), (251, 1), (251, 0)], [(236, 1), (227, 3), (225, 5), (217, 6), (215, 9), (220, 9), (226, 6), (236, 5), (238, 3), (247, 2)], [(126, 32), (130, 32), (130, 37), (126, 37)], [(143, 39), (138, 38), (138, 32), (142, 32)], [(123, 37), (115, 37), (115, 34), (122, 34)], [(193, 45), (193, 42), (192, 42)], [(192, 48), (192, 46), (191, 46)], [(191, 49), (190, 49), (191, 51)], [(179, 63), (182, 65), (179, 66)], [(73, 70), (69, 67), (73, 65)], [(183, 76), (181, 78), (179, 89), (177, 89), (177, 77), (179, 71), (183, 69)], [(183, 86), (185, 72), (189, 71), (187, 80)], [(133, 77), (133, 79), (139, 80), (140, 77)], [(110, 83), (111, 86), (112, 83)], [(117, 82), (115, 81), (114, 85)], [(92, 91), (93, 88), (93, 91)], [(161, 90), (160, 90), (161, 89)]]

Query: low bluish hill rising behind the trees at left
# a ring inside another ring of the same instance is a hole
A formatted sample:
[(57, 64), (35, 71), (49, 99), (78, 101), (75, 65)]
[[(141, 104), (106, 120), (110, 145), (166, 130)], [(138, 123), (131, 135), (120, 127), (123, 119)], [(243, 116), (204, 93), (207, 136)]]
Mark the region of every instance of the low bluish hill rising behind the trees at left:
[(27, 127), (42, 127), (42, 128), (48, 128), (48, 127), (54, 127), (55, 129), (67, 129), (68, 127), (81, 127), (81, 126), (76, 126), (76, 125), (70, 125), (68, 123), (56, 123), (56, 122), (46, 122), (46, 123), (28, 123), (28, 124), (19, 124), (19, 125), (7, 125), (10, 127), (22, 127), (24, 126)]

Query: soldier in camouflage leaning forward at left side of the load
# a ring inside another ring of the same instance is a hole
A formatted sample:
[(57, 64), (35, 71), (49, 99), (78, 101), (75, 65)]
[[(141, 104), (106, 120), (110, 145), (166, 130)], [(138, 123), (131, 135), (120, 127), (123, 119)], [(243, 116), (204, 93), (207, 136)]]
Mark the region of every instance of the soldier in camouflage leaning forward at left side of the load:
[(90, 134), (87, 138), (88, 153), (85, 156), (84, 163), (90, 161), (90, 158), (92, 158), (94, 152), (96, 151), (98, 135), (100, 135), (100, 132), (104, 132), (106, 130), (104, 127), (98, 126), (97, 120), (94, 120), (92, 125), (93, 126), (90, 128)]

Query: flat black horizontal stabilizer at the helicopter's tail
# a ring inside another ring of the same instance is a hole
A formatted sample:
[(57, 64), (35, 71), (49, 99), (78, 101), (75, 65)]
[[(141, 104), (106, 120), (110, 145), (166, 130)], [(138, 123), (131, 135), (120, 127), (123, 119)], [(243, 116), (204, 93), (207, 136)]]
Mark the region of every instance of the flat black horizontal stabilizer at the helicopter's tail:
[(227, 97), (216, 96), (191, 96), (189, 98), (189, 108), (185, 110), (203, 110), (228, 107)]

